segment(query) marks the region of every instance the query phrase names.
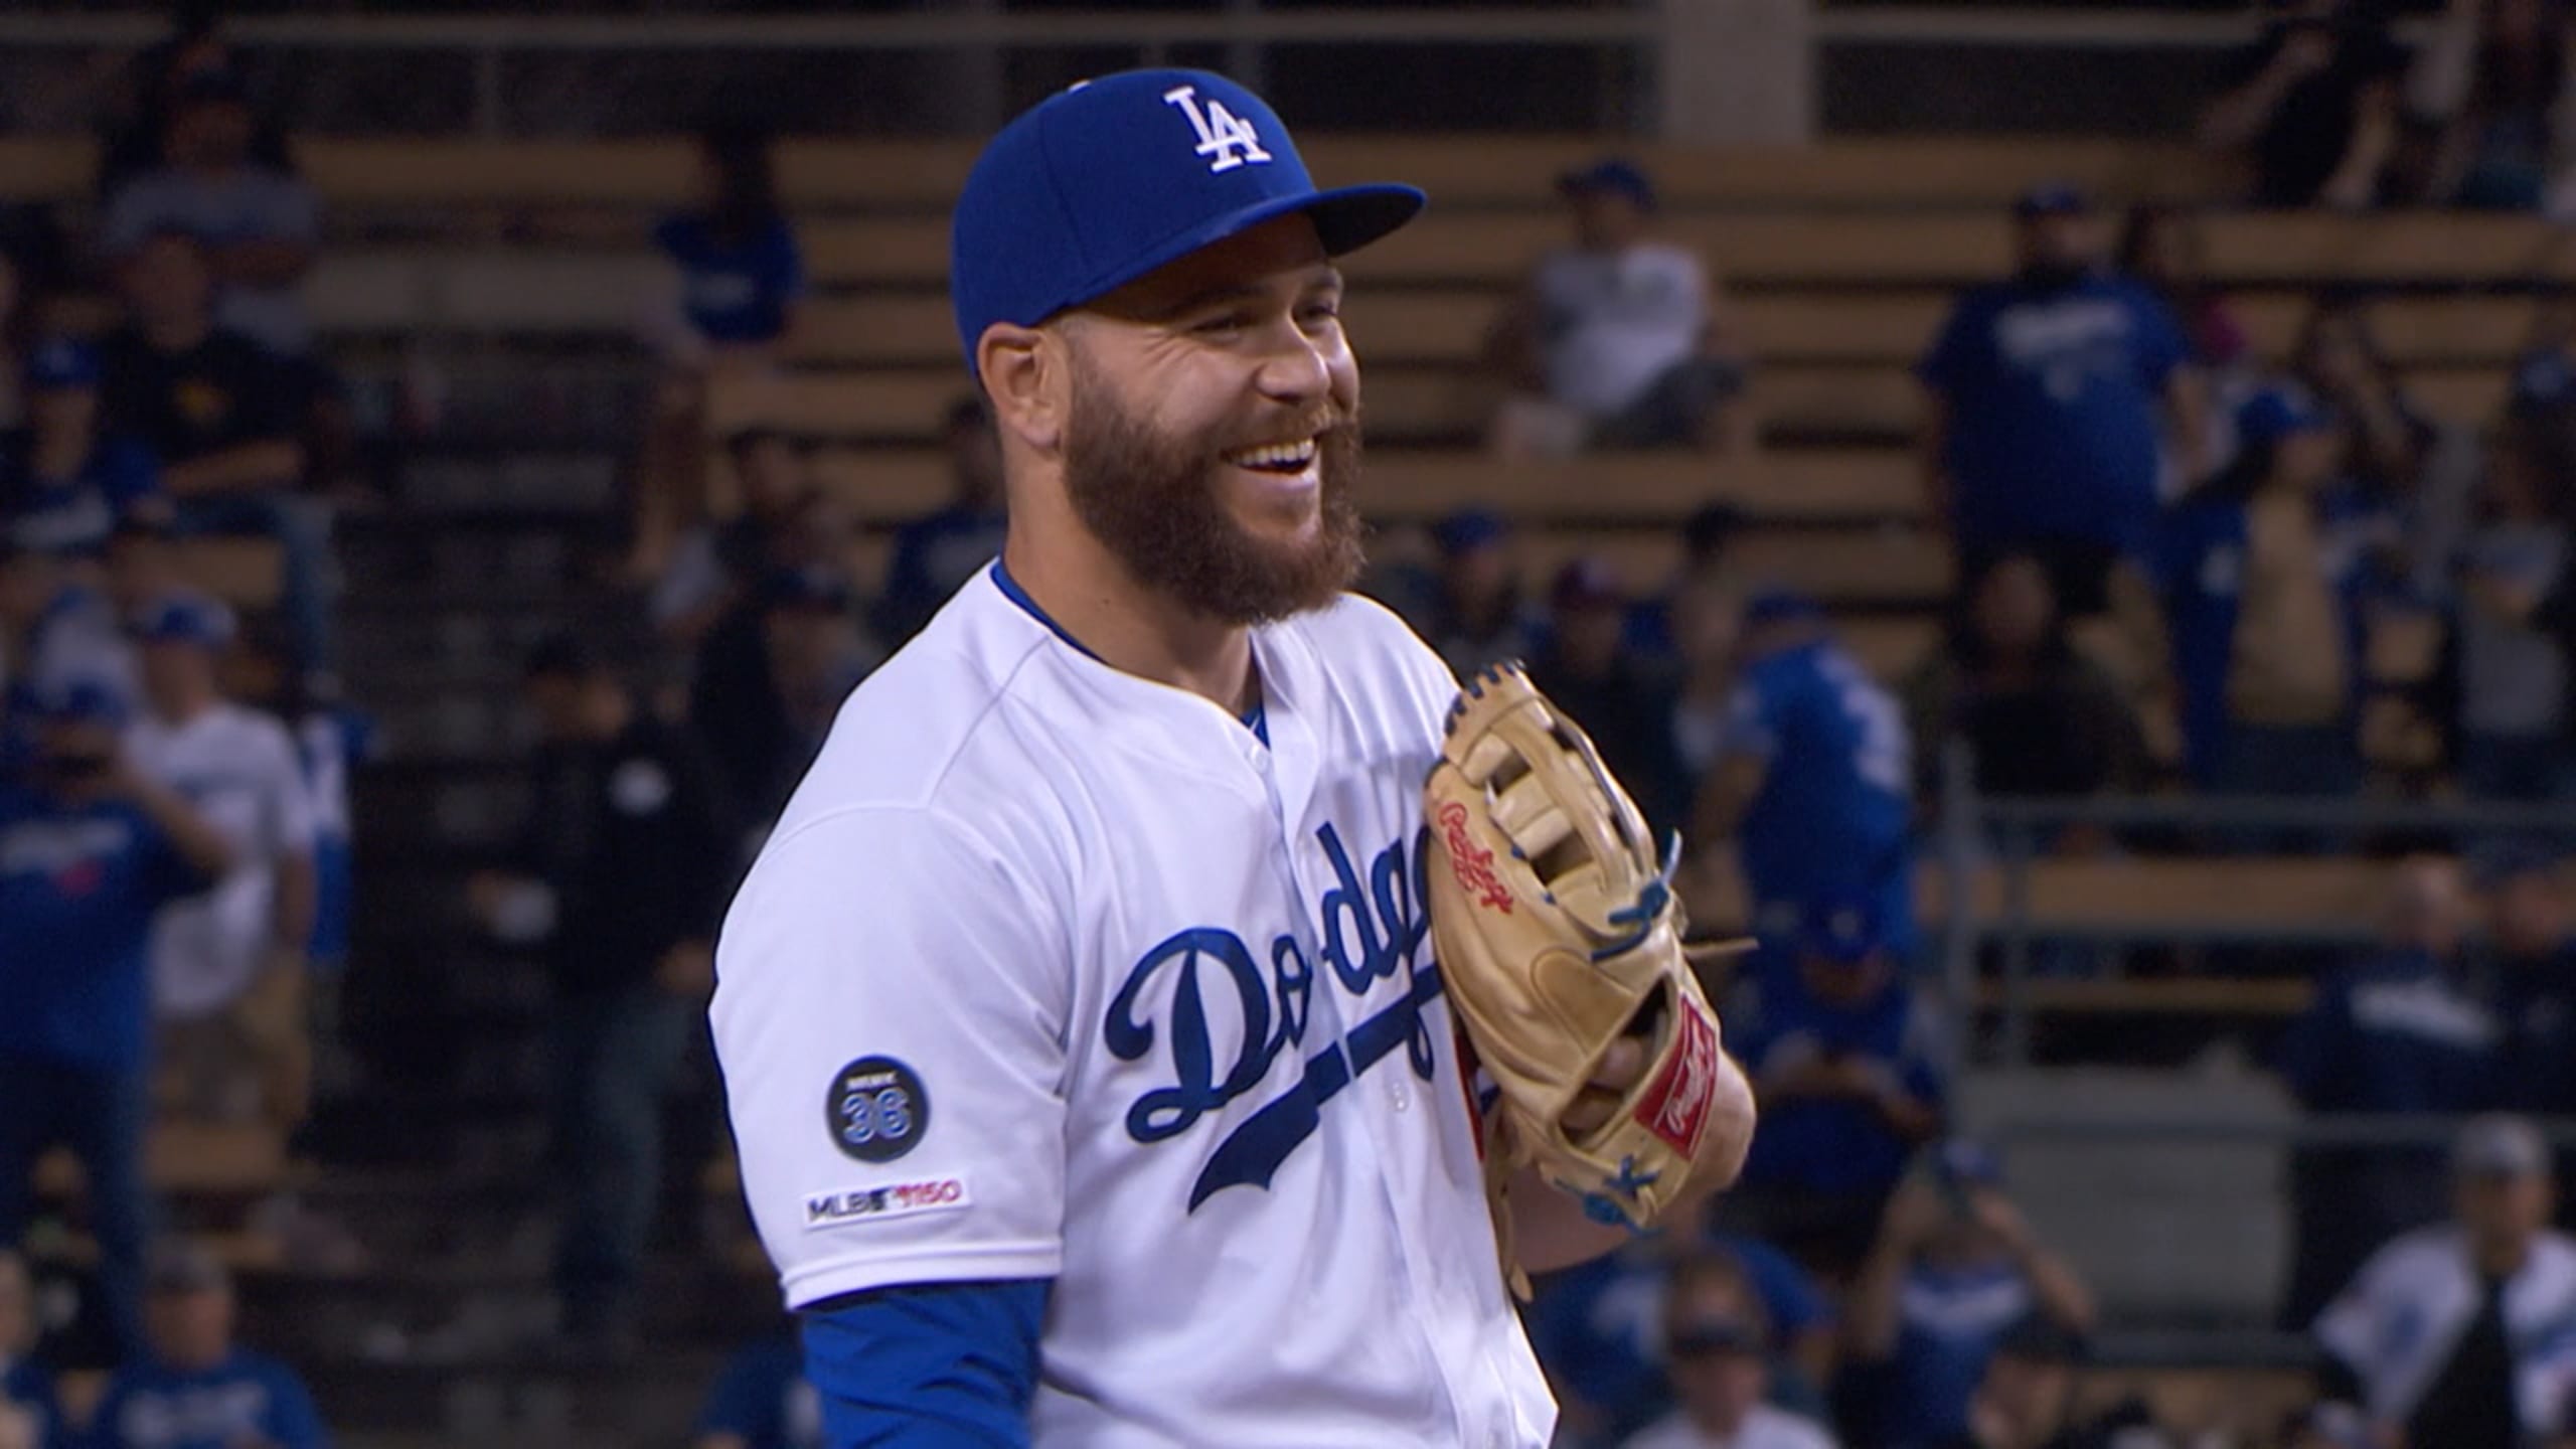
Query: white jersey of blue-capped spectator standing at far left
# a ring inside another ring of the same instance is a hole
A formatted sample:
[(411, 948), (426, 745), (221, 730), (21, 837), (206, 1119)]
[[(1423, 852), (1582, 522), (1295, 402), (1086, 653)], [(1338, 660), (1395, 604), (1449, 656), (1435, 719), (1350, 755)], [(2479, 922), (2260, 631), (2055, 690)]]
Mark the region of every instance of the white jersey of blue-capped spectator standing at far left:
[(134, 768), (188, 797), (232, 843), (232, 871), (152, 920), (152, 1006), (204, 1016), (260, 975), (276, 936), (278, 856), (314, 848), (312, 794), (294, 737), (273, 714), (214, 704), (185, 724), (144, 714), (126, 732)]

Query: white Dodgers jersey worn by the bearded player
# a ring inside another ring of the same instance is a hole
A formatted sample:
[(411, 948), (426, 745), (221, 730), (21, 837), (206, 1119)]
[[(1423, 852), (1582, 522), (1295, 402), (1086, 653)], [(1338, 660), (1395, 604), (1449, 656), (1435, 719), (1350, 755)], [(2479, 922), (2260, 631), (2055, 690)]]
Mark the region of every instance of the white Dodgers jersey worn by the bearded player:
[(999, 570), (842, 706), (716, 949), (788, 1305), (1054, 1279), (1036, 1444), (1548, 1441), (1427, 936), (1448, 670), (1252, 634), (1267, 743)]

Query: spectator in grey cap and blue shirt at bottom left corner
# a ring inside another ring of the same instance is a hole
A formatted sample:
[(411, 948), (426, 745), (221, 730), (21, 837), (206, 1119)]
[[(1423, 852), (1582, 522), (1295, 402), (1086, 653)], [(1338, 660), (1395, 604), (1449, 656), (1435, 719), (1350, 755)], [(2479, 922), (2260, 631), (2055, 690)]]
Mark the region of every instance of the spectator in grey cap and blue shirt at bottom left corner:
[(232, 1276), (211, 1253), (165, 1245), (149, 1289), (152, 1346), (108, 1377), (93, 1449), (327, 1449), (296, 1372), (234, 1343)]

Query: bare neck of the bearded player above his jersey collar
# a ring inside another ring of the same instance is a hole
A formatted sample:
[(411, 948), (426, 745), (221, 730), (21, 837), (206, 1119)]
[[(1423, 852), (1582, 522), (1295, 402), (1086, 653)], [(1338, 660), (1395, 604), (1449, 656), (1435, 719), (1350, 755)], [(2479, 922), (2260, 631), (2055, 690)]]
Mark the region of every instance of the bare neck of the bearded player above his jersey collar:
[(1231, 714), (1252, 709), (1252, 629), (1180, 608), (1097, 547), (1033, 549), (1012, 534), (1002, 567), (1100, 663), (1185, 688)]

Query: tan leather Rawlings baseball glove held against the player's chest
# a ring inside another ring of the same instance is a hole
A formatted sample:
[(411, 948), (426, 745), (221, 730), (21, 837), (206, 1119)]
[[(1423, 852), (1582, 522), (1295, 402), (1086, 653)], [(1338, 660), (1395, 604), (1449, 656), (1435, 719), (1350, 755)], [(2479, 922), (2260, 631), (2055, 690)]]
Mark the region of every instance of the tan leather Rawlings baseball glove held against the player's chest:
[(1517, 665), (1468, 681), (1440, 755), (1425, 786), (1432, 938), (1502, 1093), (1489, 1176), (1530, 1163), (1631, 1227), (1723, 1186), (1752, 1093), (1682, 946), (1680, 841), (1654, 848), (1592, 740)]

